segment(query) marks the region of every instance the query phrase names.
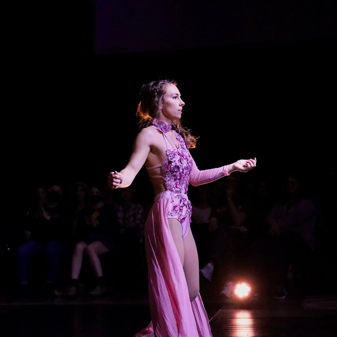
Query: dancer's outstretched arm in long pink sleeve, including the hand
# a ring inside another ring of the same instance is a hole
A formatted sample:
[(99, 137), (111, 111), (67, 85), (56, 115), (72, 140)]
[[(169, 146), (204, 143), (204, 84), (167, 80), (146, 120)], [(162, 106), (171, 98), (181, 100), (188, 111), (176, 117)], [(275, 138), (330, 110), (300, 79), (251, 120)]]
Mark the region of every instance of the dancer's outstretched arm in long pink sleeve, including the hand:
[(200, 171), (198, 170), (198, 167), (196, 166), (195, 161), (192, 158), (192, 171), (189, 177), (189, 182), (192, 186), (198, 186), (210, 183), (221, 177), (228, 176), (233, 171), (248, 172), (255, 166), (256, 158), (248, 160), (240, 159), (233, 164)]

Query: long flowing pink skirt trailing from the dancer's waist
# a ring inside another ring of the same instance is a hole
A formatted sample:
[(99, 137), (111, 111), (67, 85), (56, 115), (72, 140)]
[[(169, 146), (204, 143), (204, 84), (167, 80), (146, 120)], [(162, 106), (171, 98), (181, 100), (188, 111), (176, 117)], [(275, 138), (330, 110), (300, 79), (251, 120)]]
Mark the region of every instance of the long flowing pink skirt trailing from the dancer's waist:
[(155, 197), (145, 224), (152, 321), (134, 337), (154, 337), (154, 332), (157, 337), (212, 337), (200, 294), (190, 302), (183, 266), (168, 226), (171, 193)]

